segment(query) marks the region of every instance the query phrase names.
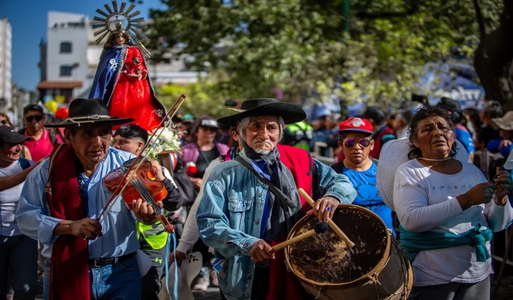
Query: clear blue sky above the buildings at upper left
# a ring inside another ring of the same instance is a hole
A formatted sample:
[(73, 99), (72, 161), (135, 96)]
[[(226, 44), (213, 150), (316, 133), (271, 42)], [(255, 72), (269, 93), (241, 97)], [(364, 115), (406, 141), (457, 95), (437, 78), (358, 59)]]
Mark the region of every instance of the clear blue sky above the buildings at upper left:
[[(121, 2), (118, 0), (118, 5)], [(110, 0), (0, 0), (0, 17), (7, 16), (12, 27), (12, 81), (16, 86), (36, 91), (40, 81), (39, 44), (41, 38), (46, 41), (49, 11), (81, 13), (92, 18), (95, 10), (103, 8), (104, 4), (112, 7)], [(143, 0), (143, 4), (136, 1), (135, 4), (135, 9), (146, 19), (150, 8), (167, 8), (160, 0)]]

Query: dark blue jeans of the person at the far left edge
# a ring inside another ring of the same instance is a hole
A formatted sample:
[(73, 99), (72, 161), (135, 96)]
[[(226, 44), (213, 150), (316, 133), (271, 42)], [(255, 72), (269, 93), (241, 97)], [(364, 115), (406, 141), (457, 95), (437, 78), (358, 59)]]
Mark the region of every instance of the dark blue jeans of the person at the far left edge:
[(37, 241), (26, 235), (0, 235), (0, 298), (5, 298), (7, 284), (14, 299), (34, 299), (37, 282)]

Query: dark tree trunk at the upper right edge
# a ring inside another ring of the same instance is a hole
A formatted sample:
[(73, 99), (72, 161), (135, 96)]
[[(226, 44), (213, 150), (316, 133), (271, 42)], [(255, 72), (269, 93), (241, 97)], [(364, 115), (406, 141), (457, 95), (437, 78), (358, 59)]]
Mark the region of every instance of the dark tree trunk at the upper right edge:
[(504, 0), (499, 27), (481, 36), (474, 67), (486, 92), (486, 99), (502, 103), (504, 111), (513, 110), (513, 2)]

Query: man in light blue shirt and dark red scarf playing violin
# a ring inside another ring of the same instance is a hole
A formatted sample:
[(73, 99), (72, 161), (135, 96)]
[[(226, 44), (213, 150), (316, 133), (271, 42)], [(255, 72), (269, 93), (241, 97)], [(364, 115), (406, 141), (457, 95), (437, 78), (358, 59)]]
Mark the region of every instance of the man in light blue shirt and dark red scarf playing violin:
[(108, 116), (102, 99), (75, 99), (68, 119), (51, 125), (65, 128), (66, 144), (55, 147), (29, 174), (16, 211), (21, 231), (44, 244), (45, 299), (133, 299), (141, 294), (135, 220), (154, 224), (153, 208), (134, 199), (130, 211), (115, 201), (103, 223), (98, 222), (112, 196), (103, 178), (134, 157), (109, 147), (112, 126), (131, 121)]

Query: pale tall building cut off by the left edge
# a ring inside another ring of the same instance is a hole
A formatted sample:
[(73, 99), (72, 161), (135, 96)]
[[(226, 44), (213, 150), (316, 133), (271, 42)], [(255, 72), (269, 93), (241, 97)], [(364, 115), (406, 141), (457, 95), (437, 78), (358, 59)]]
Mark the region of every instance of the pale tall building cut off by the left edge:
[(12, 106), (11, 23), (7, 17), (0, 19), (0, 111), (6, 113)]

